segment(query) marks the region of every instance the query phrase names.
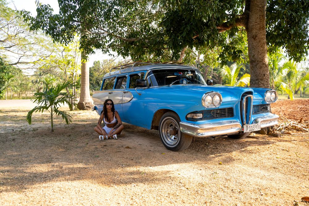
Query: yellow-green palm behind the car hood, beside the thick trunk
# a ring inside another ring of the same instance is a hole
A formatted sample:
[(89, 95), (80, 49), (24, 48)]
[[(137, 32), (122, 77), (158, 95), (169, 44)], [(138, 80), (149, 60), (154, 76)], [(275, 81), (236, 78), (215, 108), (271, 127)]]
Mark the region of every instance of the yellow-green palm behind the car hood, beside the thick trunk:
[(244, 65), (237, 65), (236, 63), (231, 66), (224, 65), (220, 68), (221, 76), (226, 83), (225, 86), (249, 86), (250, 74), (244, 74), (241, 78), (237, 79), (241, 68), (244, 69)]

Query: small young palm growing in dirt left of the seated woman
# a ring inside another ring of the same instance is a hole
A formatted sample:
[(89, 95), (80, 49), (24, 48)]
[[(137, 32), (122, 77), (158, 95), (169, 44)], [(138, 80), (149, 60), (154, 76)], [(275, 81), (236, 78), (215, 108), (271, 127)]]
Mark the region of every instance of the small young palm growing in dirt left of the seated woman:
[(69, 113), (65, 111), (60, 111), (60, 104), (67, 103), (69, 107), (76, 106), (75, 100), (73, 97), (70, 97), (69, 94), (60, 95), (61, 90), (66, 89), (66, 87), (73, 87), (76, 84), (72, 80), (67, 80), (59, 83), (57, 86), (51, 86), (50, 88), (46, 88), (43, 92), (37, 91), (34, 93), (32, 100), (34, 103), (37, 103), (39, 106), (34, 107), (32, 110), (28, 112), (27, 121), (31, 124), (32, 114), (33, 112), (43, 112), (49, 111), (50, 120), (51, 120), (51, 129), (54, 131), (53, 127), (53, 115), (61, 115), (62, 119), (66, 120), (66, 124), (70, 124), (72, 122), (72, 117)]

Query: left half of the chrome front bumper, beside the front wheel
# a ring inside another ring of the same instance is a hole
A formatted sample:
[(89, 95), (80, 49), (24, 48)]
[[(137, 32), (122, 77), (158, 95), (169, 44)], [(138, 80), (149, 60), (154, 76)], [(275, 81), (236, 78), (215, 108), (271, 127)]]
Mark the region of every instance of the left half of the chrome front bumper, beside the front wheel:
[(221, 121), (209, 124), (192, 124), (180, 122), (180, 131), (194, 137), (213, 137), (228, 134), (235, 134), (241, 130), (241, 124), (238, 121)]

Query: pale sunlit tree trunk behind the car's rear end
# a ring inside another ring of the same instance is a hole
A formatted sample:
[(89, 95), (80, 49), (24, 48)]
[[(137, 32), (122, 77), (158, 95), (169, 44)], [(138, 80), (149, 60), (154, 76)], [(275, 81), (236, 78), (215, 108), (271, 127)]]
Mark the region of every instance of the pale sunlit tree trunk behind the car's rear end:
[(77, 108), (80, 110), (90, 110), (92, 107), (93, 107), (93, 101), (90, 97), (90, 90), (89, 90), (89, 65), (88, 62), (83, 62), (83, 54), (82, 54), (80, 98), (77, 104)]

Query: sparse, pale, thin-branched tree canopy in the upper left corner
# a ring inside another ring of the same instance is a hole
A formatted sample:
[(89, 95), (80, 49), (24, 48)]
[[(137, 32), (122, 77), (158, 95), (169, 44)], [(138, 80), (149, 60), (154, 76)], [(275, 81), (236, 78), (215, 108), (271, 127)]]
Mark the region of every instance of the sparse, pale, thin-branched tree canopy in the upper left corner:
[(0, 0), (0, 53), (9, 65), (22, 69), (37, 68), (40, 61), (55, 52), (45, 35), (33, 35), (16, 11)]

